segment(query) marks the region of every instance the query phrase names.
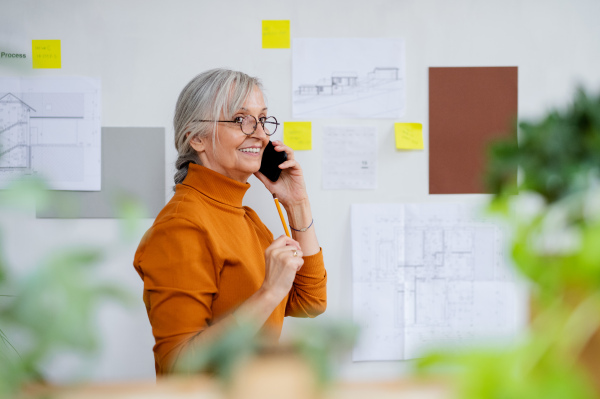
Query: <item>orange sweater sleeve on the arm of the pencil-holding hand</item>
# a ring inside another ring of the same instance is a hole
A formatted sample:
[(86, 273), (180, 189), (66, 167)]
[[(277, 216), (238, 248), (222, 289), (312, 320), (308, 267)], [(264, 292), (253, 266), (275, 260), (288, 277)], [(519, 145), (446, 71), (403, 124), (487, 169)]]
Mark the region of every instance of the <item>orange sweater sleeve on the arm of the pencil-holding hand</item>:
[(172, 218), (146, 233), (135, 257), (156, 340), (157, 374), (170, 371), (182, 350), (212, 322), (218, 270), (206, 234)]

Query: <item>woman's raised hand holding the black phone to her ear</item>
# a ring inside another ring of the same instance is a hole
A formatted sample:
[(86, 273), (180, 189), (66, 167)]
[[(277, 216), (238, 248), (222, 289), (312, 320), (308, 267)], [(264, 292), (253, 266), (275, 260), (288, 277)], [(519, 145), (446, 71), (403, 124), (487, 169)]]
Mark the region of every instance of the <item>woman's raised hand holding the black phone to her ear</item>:
[(284, 151), (287, 154), (287, 161), (279, 165), (279, 168), (282, 169), (279, 179), (272, 182), (260, 172), (256, 172), (254, 175), (267, 187), (267, 190), (277, 195), (279, 202), (286, 209), (289, 209), (290, 206), (300, 204), (308, 199), (304, 175), (300, 164), (294, 158), (294, 151), (290, 147), (278, 140), (273, 141), (273, 146), (275, 151)]

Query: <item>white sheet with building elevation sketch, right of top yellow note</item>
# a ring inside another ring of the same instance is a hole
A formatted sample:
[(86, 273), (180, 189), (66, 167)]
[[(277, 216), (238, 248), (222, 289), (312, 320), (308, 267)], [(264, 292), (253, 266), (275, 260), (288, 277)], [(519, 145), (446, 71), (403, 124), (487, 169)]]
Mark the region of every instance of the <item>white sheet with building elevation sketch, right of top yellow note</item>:
[(294, 118), (399, 118), (404, 115), (401, 39), (295, 39)]

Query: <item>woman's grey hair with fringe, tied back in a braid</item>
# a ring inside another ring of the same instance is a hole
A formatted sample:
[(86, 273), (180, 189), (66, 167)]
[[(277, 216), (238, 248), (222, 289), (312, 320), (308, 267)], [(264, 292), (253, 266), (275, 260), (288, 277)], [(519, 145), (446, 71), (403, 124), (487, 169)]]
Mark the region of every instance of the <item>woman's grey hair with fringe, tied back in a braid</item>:
[(211, 136), (213, 149), (218, 140), (217, 123), (209, 124), (198, 120), (216, 121), (221, 118), (221, 114), (223, 118), (231, 119), (255, 87), (262, 90), (258, 78), (228, 69), (211, 69), (193, 78), (183, 88), (173, 117), (178, 154), (175, 161), (175, 184), (185, 179), (190, 162), (202, 164), (198, 153), (190, 145), (190, 140), (195, 136), (201, 139)]

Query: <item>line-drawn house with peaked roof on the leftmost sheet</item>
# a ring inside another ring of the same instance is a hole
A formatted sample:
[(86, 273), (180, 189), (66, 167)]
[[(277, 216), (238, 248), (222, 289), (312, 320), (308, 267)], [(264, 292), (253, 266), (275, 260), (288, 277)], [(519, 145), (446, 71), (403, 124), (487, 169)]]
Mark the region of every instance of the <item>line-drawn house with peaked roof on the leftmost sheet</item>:
[(0, 169), (30, 168), (31, 112), (35, 109), (12, 93), (0, 98)]

